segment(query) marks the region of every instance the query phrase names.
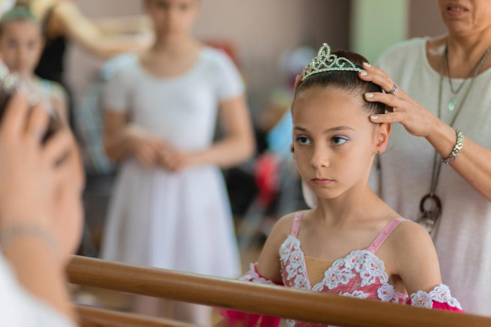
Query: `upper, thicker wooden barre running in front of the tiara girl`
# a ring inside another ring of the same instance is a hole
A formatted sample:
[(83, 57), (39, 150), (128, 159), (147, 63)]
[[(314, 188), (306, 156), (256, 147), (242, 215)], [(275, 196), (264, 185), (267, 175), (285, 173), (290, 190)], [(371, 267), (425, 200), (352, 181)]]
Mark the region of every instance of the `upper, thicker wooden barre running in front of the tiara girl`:
[(69, 264), (68, 275), (74, 284), (346, 327), (491, 326), (491, 318), (477, 315), (414, 308), (81, 256), (75, 256)]

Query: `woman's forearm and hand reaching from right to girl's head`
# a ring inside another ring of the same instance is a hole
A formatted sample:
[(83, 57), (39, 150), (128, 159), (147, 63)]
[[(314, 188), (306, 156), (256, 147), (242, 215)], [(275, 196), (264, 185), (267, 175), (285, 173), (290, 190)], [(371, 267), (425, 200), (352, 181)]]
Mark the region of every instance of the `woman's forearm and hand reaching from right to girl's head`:
[[(372, 81), (384, 90), (391, 90), (395, 83), (381, 69), (364, 66), (366, 75), (359, 76), (365, 81)], [(414, 101), (397, 86), (396, 91), (389, 94), (370, 93), (365, 95), (367, 101), (378, 101), (389, 106), (389, 113), (371, 116), (373, 123), (400, 123), (415, 136), (425, 137), (443, 157), (447, 158), (456, 143), (455, 130), (443, 123), (426, 108)], [(465, 135), (464, 135), (465, 136)], [(474, 190), (486, 200), (491, 201), (491, 150), (486, 149), (464, 137), (463, 147), (451, 167)]]

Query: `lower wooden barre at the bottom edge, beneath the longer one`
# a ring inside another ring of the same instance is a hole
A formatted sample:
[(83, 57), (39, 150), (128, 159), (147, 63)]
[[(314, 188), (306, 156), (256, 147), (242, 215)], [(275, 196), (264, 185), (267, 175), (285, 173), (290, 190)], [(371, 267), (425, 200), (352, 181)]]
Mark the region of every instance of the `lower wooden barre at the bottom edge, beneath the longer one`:
[(89, 306), (75, 307), (81, 327), (197, 327), (177, 320), (162, 319), (105, 310)]

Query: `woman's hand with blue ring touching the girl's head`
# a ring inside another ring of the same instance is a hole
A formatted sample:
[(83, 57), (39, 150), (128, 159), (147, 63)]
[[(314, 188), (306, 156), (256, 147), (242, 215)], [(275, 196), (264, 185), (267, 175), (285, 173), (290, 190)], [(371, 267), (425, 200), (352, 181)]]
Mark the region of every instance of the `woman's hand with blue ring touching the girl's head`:
[(371, 115), (370, 121), (372, 123), (400, 123), (410, 134), (427, 137), (438, 119), (400, 89), (382, 69), (368, 63), (364, 63), (363, 68), (366, 72), (358, 73), (360, 79), (371, 81), (386, 92), (396, 87), (392, 94), (381, 92), (365, 94), (366, 101), (382, 102), (387, 105), (388, 113)]

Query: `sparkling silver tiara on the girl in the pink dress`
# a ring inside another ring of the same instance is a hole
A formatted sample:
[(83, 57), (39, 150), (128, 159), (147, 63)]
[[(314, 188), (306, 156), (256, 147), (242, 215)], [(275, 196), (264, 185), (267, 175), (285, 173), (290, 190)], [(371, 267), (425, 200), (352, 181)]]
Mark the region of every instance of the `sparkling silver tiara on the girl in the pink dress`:
[(312, 59), (303, 70), (302, 81), (310, 75), (331, 71), (363, 72), (364, 70), (356, 67), (354, 63), (344, 57), (338, 57), (331, 54), (329, 45), (323, 43), (321, 49), (319, 49), (319, 52), (317, 53), (317, 57)]

